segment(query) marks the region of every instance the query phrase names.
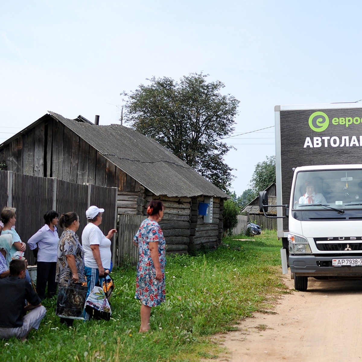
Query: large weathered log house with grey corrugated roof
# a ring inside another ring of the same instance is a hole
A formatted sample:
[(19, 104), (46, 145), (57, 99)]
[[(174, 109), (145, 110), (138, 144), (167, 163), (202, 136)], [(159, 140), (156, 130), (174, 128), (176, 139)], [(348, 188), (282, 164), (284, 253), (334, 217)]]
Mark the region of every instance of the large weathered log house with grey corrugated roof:
[[(0, 144), (7, 170), (78, 184), (116, 187), (121, 215), (146, 215), (152, 199), (165, 205), (167, 251), (187, 253), (222, 240), (226, 193), (155, 140), (121, 125), (49, 112)], [(208, 204), (207, 215), (201, 209)], [(102, 205), (99, 205), (102, 207)]]

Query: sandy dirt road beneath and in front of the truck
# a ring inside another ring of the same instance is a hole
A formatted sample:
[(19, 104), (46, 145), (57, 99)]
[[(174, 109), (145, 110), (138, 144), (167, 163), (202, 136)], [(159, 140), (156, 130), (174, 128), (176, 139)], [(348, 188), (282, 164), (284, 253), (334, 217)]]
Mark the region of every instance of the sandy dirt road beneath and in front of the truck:
[[(294, 289), (290, 275), (285, 284)], [(318, 281), (283, 296), (218, 338), (228, 353), (216, 361), (362, 361), (362, 281)]]

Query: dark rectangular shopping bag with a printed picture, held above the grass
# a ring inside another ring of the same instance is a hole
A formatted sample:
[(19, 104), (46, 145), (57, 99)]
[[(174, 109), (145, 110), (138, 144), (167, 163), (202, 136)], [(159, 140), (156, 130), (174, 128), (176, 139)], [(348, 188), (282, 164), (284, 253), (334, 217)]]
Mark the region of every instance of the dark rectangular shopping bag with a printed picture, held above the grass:
[(71, 283), (59, 284), (56, 298), (56, 315), (69, 319), (84, 319), (83, 309), (87, 286)]

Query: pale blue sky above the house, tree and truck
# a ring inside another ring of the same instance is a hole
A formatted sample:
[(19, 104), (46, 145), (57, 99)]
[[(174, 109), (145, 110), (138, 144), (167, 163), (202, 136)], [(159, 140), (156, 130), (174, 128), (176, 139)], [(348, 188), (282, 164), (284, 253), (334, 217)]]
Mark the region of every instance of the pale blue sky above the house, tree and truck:
[(362, 99), (361, 10), (349, 0), (2, 1), (0, 143), (48, 110), (117, 123), (123, 90), (202, 71), (240, 100), (235, 135), (271, 127), (227, 141), (240, 195), (275, 153), (275, 105)]

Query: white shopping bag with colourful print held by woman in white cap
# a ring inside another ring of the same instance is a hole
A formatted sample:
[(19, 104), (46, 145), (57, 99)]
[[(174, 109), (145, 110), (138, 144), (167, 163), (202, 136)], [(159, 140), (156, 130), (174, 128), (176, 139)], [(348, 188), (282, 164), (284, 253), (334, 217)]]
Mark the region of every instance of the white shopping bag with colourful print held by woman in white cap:
[(93, 319), (109, 320), (111, 317), (111, 307), (103, 288), (96, 285), (89, 293), (85, 301), (85, 311)]

